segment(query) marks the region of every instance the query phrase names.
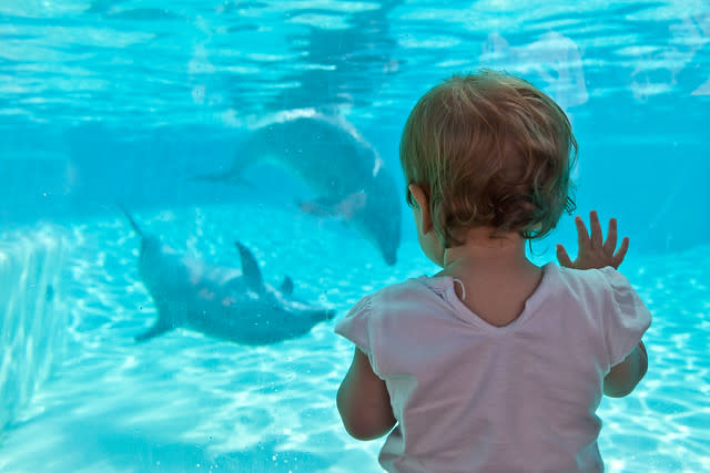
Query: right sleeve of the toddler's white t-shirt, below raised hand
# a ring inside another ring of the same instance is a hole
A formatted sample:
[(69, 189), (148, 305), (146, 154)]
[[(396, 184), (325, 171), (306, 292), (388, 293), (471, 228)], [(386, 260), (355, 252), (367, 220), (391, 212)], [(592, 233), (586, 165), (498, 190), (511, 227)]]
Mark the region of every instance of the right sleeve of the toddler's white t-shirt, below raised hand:
[(610, 266), (600, 271), (611, 287), (611, 307), (604, 313), (604, 336), (609, 366), (613, 367), (641, 341), (651, 325), (651, 312), (621, 273)]

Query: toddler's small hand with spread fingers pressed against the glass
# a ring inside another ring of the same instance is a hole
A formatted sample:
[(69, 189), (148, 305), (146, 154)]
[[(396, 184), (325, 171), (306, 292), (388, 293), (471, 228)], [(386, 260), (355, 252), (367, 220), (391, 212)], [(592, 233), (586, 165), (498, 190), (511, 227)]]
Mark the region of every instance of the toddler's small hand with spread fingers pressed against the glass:
[(560, 266), (574, 269), (605, 268), (607, 266), (613, 266), (615, 269), (618, 268), (623, 261), (626, 251), (629, 249), (629, 238), (625, 237), (621, 240), (621, 246), (615, 254), (613, 250), (617, 248), (617, 220), (615, 218), (609, 220), (609, 232), (607, 232), (607, 240), (604, 243), (601, 241), (601, 225), (599, 225), (599, 216), (596, 210), (589, 213), (589, 222), (591, 237), (587, 234), (587, 227), (581, 217), (575, 217), (579, 244), (577, 259), (575, 261), (569, 259), (565, 247), (557, 245), (557, 260)]

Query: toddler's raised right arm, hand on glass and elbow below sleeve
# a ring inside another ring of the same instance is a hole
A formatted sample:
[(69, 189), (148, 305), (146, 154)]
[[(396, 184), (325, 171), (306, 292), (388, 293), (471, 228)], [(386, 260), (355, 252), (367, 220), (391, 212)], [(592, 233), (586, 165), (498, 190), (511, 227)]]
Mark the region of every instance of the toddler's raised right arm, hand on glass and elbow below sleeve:
[[(629, 238), (623, 238), (618, 251), (617, 247), (617, 222), (609, 220), (609, 230), (607, 232), (607, 240), (602, 241), (601, 225), (599, 216), (595, 210), (589, 214), (589, 224), (591, 233), (587, 233), (587, 227), (581, 217), (575, 218), (577, 225), (577, 237), (579, 243), (579, 251), (577, 258), (572, 261), (565, 247), (557, 245), (557, 259), (560, 266), (575, 269), (605, 268), (612, 266), (615, 269), (619, 267), (626, 251), (629, 249)], [(604, 393), (610, 398), (623, 398), (633, 391), (636, 385), (641, 381), (648, 371), (648, 356), (643, 342), (639, 345), (626, 357), (623, 361), (611, 367), (611, 370), (604, 379)]]

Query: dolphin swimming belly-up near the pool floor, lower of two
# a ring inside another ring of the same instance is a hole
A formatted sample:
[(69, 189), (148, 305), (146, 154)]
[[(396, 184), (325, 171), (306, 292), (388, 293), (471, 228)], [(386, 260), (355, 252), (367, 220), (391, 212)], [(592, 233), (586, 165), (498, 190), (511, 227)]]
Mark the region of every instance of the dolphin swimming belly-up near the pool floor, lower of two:
[(158, 308), (158, 320), (136, 341), (183, 327), (242, 345), (270, 345), (303, 336), (335, 316), (296, 300), (288, 277), (280, 289), (265, 284), (256, 259), (239, 241), (242, 271), (209, 266), (146, 235), (123, 212), (141, 237), (139, 273)]

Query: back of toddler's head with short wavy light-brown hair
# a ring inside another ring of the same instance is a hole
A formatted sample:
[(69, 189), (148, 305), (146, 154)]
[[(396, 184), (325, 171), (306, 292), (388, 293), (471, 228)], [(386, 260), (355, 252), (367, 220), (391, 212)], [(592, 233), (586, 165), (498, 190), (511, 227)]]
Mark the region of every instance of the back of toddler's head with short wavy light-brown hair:
[[(572, 212), (577, 142), (565, 112), (528, 82), (481, 71), (454, 75), (414, 106), (399, 158), (428, 197), (444, 247), (474, 227), (541, 238)], [(415, 205), (407, 192), (407, 202)]]

